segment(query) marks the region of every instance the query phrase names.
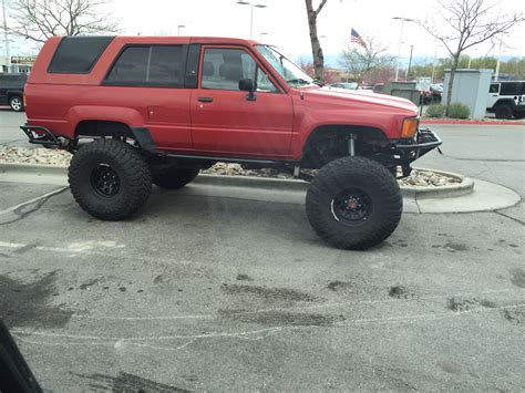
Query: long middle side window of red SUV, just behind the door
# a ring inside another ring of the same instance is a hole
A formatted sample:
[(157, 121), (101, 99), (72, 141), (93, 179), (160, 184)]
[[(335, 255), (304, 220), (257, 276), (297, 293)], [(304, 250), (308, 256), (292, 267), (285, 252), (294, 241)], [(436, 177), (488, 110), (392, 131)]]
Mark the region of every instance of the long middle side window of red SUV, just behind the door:
[(104, 84), (117, 86), (184, 86), (184, 45), (127, 46)]

